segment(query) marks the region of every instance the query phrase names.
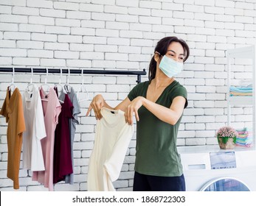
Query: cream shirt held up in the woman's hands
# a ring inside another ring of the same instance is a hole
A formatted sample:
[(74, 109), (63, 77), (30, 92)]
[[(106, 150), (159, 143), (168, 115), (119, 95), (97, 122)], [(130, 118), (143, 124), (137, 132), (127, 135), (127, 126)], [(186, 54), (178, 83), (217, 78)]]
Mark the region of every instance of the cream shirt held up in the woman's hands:
[(118, 179), (123, 160), (134, 134), (134, 127), (125, 123), (121, 110), (101, 109), (97, 121), (94, 148), (89, 161), (88, 191), (115, 191), (112, 182)]

